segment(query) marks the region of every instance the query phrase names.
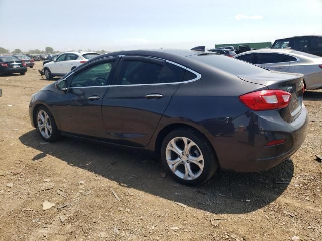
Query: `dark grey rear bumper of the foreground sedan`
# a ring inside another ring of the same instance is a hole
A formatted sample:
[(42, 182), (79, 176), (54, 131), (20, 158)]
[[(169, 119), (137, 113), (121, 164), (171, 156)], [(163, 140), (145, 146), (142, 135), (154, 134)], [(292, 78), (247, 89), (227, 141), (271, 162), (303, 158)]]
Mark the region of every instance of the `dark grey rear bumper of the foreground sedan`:
[[(230, 129), (230, 134), (207, 134), (221, 169), (259, 172), (283, 162), (300, 148), (306, 137), (308, 114), (303, 105), (301, 114), (292, 123), (286, 123), (281, 118), (276, 122), (250, 111), (234, 119), (232, 124), (234, 129)], [(279, 139), (285, 139), (285, 143), (265, 146)]]

